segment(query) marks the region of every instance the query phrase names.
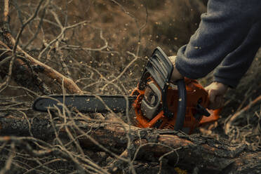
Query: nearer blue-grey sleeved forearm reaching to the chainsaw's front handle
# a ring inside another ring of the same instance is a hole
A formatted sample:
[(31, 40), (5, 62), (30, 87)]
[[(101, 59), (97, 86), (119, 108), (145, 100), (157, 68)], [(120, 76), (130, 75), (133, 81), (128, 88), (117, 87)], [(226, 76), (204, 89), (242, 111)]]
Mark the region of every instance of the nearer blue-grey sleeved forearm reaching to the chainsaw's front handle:
[(175, 67), (180, 74), (199, 79), (220, 65), (246, 39), (260, 15), (260, 6), (257, 0), (209, 0), (199, 29), (178, 51)]

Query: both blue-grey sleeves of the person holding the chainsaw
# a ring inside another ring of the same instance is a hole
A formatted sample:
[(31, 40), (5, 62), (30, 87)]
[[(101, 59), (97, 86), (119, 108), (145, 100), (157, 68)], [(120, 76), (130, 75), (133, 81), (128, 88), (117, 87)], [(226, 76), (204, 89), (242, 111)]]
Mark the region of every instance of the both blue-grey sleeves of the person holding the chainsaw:
[(179, 49), (175, 66), (191, 79), (218, 66), (214, 80), (235, 88), (260, 45), (260, 0), (209, 0), (199, 28)]

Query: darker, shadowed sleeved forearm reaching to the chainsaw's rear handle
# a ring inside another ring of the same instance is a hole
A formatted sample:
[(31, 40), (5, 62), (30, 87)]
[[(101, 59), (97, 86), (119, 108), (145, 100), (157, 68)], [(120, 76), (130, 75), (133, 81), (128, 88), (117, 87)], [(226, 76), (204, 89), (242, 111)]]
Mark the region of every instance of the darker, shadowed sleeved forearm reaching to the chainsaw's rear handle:
[(241, 46), (226, 56), (214, 72), (214, 81), (236, 88), (261, 46), (261, 21), (255, 23)]

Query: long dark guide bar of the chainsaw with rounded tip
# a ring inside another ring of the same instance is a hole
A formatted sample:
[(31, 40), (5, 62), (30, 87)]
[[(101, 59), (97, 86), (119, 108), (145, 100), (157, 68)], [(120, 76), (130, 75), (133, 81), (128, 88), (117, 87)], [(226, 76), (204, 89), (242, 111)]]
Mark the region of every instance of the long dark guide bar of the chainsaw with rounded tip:
[(48, 95), (37, 98), (33, 109), (48, 112), (48, 109), (57, 107), (62, 111), (66, 106), (69, 110), (83, 113), (126, 113), (136, 98), (128, 95)]

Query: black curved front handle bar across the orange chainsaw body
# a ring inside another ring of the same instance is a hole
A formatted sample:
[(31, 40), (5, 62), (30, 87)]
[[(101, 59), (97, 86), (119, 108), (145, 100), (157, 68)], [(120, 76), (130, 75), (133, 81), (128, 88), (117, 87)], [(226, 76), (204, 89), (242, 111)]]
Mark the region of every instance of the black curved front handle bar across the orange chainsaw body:
[(178, 110), (175, 121), (174, 130), (179, 131), (182, 129), (185, 121), (186, 107), (187, 107), (187, 91), (184, 79), (176, 81), (178, 86)]

